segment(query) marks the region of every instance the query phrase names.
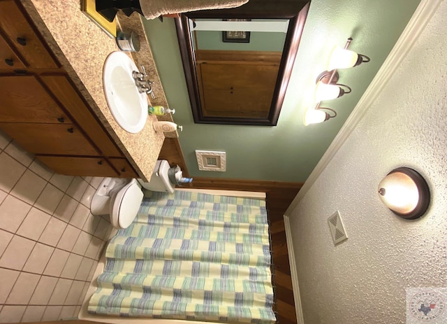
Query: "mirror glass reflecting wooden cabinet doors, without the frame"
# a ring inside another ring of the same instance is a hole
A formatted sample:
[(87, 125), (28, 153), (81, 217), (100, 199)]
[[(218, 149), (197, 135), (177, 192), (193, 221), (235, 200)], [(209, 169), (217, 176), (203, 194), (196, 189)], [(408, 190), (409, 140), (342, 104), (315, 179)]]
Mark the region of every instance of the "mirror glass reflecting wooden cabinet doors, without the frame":
[(267, 119), (288, 20), (193, 23), (202, 115)]

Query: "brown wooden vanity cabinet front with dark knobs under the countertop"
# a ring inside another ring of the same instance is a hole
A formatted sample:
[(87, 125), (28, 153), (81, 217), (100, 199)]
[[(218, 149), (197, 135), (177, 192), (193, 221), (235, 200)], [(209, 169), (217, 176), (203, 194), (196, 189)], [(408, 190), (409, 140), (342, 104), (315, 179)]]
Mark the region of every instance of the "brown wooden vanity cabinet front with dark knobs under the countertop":
[(59, 174), (138, 174), (13, 0), (0, 0), (0, 129)]

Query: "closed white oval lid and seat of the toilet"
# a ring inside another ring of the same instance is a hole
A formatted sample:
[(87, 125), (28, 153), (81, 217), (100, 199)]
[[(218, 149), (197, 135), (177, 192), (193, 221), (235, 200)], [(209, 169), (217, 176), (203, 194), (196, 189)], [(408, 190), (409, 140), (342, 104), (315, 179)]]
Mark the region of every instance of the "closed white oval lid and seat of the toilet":
[(142, 202), (143, 193), (135, 182), (119, 190), (112, 209), (112, 225), (126, 228), (131, 225)]

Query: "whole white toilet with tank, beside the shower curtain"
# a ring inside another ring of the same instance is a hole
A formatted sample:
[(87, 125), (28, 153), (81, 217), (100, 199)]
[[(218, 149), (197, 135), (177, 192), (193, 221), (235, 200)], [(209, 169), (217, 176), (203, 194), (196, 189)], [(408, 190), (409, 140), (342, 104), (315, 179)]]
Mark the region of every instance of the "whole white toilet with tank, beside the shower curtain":
[(110, 215), (110, 222), (117, 229), (129, 227), (140, 209), (143, 197), (141, 188), (174, 192), (168, 178), (169, 168), (168, 161), (158, 160), (149, 182), (141, 179), (104, 178), (91, 198), (91, 213), (95, 216)]

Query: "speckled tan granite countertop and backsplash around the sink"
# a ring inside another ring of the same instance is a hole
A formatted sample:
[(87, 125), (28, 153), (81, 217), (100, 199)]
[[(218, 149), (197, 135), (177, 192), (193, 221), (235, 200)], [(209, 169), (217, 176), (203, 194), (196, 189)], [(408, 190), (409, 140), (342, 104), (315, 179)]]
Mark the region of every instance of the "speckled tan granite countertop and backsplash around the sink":
[[(103, 92), (102, 73), (105, 58), (110, 52), (119, 50), (115, 38), (105, 34), (81, 12), (79, 0), (22, 0), (21, 2), (98, 120), (123, 151), (140, 178), (147, 181), (152, 176), (165, 134), (154, 132), (152, 127), (152, 122), (156, 120), (154, 115), (148, 116), (141, 132), (131, 134), (119, 127), (110, 113)], [(140, 17), (136, 13), (131, 17), (123, 16), (125, 18), (122, 22), (126, 27), (137, 29), (139, 27), (141, 30), (136, 31), (137, 34), (145, 37)], [(145, 38), (140, 39), (140, 42), (142, 43), (140, 59), (147, 59), (150, 62), (135, 62), (135, 64), (137, 66), (145, 64), (149, 78), (154, 80), (158, 78), (158, 74), (152, 52)], [(132, 58), (135, 61), (135, 57)], [(166, 102), (161, 84), (154, 87), (154, 93), (157, 102)], [(175, 136), (175, 133), (170, 136)]]

